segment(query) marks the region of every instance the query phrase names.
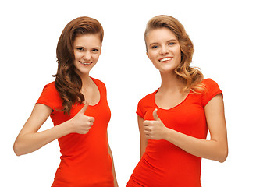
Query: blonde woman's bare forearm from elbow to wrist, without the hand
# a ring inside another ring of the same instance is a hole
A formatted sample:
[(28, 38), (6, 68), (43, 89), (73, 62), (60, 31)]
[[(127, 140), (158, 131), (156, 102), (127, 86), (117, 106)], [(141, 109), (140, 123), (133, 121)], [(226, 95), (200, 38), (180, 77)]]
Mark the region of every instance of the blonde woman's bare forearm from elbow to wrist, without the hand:
[(187, 153), (214, 161), (223, 162), (226, 160), (228, 154), (228, 148), (224, 142), (222, 143), (214, 139), (197, 139), (172, 129), (166, 130), (165, 140), (179, 146)]

